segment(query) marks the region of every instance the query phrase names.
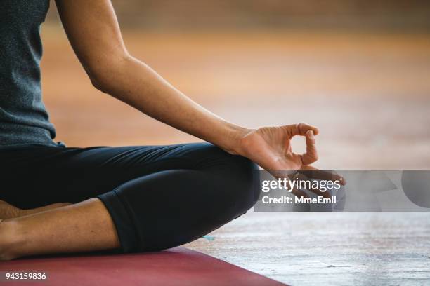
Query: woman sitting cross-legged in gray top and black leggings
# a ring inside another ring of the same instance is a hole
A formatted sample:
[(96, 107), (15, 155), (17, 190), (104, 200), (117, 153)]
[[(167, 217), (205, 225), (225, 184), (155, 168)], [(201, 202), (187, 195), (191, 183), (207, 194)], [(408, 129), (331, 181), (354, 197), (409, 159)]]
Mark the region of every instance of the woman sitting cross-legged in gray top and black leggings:
[[(252, 162), (294, 170), (317, 160), (317, 128), (233, 125), (132, 57), (109, 0), (56, 0), (93, 86), (210, 143), (70, 148), (54, 142), (39, 71), (48, 2), (0, 1), (0, 259), (188, 243), (252, 207)], [(295, 135), (306, 137), (305, 154), (292, 153)]]

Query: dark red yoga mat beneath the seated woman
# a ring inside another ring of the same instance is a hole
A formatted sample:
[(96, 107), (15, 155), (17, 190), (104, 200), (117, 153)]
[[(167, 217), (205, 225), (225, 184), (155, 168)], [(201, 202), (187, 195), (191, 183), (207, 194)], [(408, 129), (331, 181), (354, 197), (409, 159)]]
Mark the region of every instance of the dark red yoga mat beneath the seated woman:
[[(5, 282), (5, 273), (46, 273), (44, 282)], [(0, 261), (0, 286), (280, 286), (214, 257), (175, 247), (162, 252), (41, 257)]]

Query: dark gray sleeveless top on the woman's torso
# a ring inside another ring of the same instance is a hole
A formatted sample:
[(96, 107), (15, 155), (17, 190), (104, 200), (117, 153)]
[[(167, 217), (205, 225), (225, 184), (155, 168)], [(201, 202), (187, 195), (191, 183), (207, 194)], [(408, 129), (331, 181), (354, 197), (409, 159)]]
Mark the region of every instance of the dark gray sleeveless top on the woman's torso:
[(58, 146), (41, 98), (40, 25), (49, 0), (0, 0), (0, 147)]

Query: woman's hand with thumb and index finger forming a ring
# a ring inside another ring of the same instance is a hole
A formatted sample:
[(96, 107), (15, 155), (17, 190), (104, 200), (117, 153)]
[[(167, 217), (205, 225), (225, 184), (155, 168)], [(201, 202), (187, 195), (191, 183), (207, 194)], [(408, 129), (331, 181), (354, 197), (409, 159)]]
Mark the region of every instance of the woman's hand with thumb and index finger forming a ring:
[[(304, 154), (292, 151), (291, 139), (297, 135), (306, 137)], [(318, 160), (314, 135), (318, 135), (318, 128), (304, 123), (263, 127), (242, 136), (238, 153), (269, 172), (307, 169)]]

